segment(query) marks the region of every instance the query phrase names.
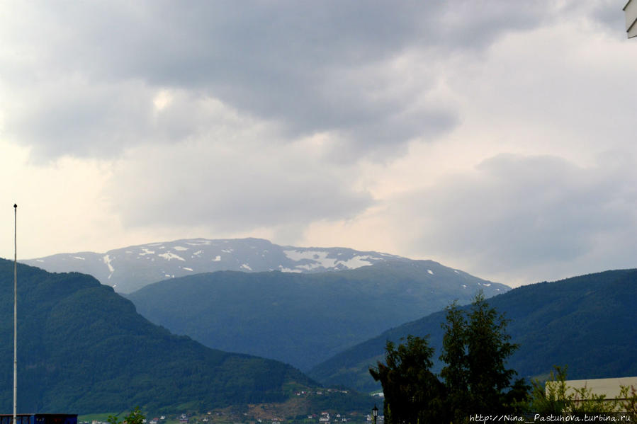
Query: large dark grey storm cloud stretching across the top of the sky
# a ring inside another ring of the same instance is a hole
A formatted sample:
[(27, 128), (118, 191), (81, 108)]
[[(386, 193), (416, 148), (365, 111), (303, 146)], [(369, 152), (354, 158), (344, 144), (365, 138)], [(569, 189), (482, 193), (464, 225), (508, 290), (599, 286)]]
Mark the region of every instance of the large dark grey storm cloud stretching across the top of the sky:
[[(6, 131), (53, 156), (179, 141), (179, 134), (147, 127), (150, 91), (168, 87), (278, 122), (288, 137), (334, 132), (345, 150), (390, 154), (458, 122), (449, 107), (422, 101), (436, 84), (433, 71), (405, 84), (388, 65), (393, 59), (416, 51), (434, 64), (456, 50), (479, 52), (503, 31), (538, 25), (543, 8), (507, 1), (40, 5), (31, 11), (43, 21), (38, 28), (24, 23), (18, 30), (33, 33), (25, 49), (38, 58), (38, 70), (28, 71), (45, 101), (9, 114)], [(78, 75), (85, 86), (69, 81)], [(62, 92), (47, 103), (51, 86)]]

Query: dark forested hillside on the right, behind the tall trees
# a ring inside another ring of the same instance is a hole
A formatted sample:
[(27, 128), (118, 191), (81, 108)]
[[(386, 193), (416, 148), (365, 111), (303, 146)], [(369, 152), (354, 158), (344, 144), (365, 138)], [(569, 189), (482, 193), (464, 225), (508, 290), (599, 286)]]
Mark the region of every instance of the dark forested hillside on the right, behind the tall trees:
[[(489, 304), (511, 319), (508, 330), (519, 350), (509, 365), (522, 377), (568, 365), (570, 379), (637, 375), (637, 270), (614, 270), (557, 282), (541, 282), (500, 294)], [(378, 388), (368, 367), (383, 359), (385, 340), (431, 334), (440, 354), (444, 311), (406, 323), (335, 355), (313, 368), (325, 384)]]

